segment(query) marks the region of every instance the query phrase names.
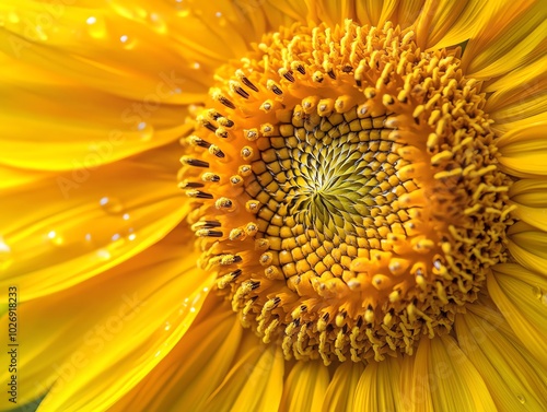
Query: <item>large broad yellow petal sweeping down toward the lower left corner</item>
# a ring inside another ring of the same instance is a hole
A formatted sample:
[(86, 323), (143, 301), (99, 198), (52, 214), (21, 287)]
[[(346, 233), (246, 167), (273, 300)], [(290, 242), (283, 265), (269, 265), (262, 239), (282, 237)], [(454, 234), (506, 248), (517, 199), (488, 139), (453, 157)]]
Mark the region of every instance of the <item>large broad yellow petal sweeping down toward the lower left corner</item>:
[[(48, 390), (43, 411), (105, 410), (148, 375), (184, 336), (213, 281), (195, 269), (193, 243), (179, 239), (18, 308), (21, 402)], [(0, 372), (2, 381), (7, 375)]]

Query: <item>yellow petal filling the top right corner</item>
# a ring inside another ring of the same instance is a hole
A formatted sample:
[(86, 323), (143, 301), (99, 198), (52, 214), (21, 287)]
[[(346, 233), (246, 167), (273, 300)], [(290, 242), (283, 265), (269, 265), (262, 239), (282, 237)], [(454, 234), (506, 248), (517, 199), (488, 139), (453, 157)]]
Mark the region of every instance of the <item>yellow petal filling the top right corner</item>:
[(475, 79), (490, 79), (532, 63), (545, 54), (543, 1), (498, 1), (488, 24), (466, 46), (462, 68)]

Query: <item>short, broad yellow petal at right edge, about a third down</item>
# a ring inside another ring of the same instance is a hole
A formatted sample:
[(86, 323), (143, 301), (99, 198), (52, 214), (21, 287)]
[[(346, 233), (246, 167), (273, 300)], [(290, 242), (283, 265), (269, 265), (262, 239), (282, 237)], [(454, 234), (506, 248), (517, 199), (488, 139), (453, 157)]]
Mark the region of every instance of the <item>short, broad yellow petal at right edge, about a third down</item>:
[(502, 168), (519, 177), (547, 175), (547, 142), (544, 139), (546, 121), (529, 123), (514, 129), (498, 140)]

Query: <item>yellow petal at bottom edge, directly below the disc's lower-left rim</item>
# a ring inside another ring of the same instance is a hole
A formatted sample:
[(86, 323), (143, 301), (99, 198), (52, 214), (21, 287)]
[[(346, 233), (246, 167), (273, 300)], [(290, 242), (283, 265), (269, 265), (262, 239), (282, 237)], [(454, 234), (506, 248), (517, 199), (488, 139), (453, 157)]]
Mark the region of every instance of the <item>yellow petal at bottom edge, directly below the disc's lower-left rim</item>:
[(281, 350), (263, 346), (251, 336), (253, 346), (240, 356), (220, 388), (209, 398), (206, 411), (277, 412), (283, 390), (284, 358)]

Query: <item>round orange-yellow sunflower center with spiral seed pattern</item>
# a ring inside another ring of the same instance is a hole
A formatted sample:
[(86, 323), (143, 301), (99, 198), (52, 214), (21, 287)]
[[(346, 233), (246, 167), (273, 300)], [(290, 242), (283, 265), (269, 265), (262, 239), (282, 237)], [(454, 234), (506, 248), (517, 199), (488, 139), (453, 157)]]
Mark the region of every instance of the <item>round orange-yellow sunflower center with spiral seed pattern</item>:
[(288, 358), (412, 354), (505, 259), (510, 180), (458, 56), (348, 21), (218, 70), (183, 141), (198, 263)]

